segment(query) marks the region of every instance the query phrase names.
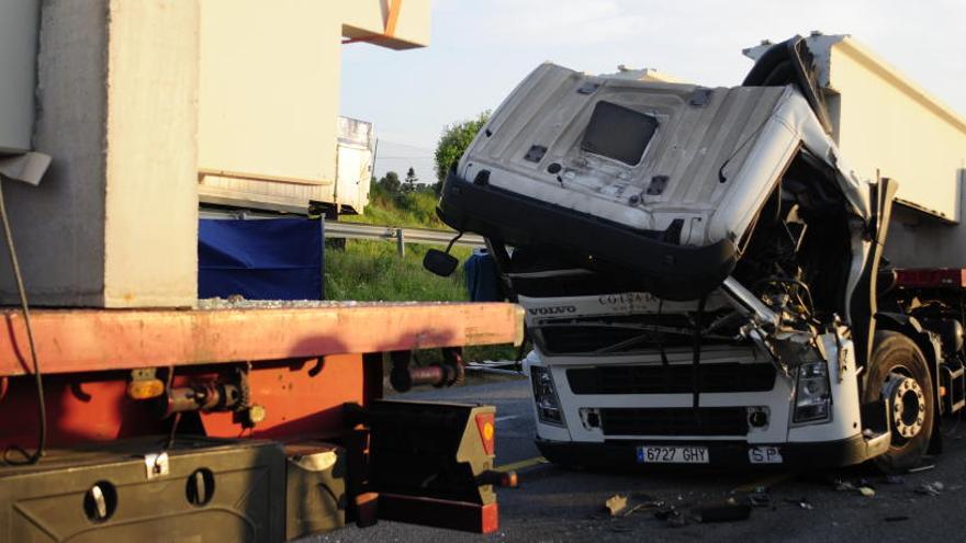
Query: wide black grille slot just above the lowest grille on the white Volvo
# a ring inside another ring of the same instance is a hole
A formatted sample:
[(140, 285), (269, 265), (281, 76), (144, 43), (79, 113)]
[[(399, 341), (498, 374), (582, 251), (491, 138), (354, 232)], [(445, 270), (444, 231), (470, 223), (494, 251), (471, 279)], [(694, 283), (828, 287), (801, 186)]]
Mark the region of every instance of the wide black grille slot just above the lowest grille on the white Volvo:
[[(574, 394), (687, 394), (694, 392), (693, 366), (608, 365), (566, 371)], [(701, 393), (767, 392), (775, 386), (772, 364), (701, 364)]]

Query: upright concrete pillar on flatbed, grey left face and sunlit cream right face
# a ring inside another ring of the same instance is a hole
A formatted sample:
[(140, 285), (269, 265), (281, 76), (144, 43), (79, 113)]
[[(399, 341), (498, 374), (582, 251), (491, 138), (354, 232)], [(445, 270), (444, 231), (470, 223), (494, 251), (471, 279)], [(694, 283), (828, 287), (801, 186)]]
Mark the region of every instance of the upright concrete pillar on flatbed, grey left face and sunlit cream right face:
[(33, 144), (54, 160), (4, 184), (33, 304), (195, 303), (198, 30), (196, 0), (42, 2)]

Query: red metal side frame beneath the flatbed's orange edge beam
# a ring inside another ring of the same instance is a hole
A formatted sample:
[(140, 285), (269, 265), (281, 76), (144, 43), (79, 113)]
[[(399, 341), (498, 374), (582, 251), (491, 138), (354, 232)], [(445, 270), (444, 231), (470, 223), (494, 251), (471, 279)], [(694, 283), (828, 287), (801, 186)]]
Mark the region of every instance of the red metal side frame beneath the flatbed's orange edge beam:
[[(341, 434), (347, 429), (342, 404), (366, 405), (372, 399), (367, 397), (364, 384), (378, 378), (382, 385), (381, 366), (381, 359), (363, 361), (359, 354), (336, 354), (322, 361), (255, 363), (248, 374), (251, 403), (265, 408), (265, 420), (246, 429), (234, 412), (202, 412), (204, 433), (280, 441)], [(184, 386), (192, 378), (213, 377), (217, 366), (199, 370), (202, 373), (198, 375), (175, 377), (173, 385)], [(7, 394), (0, 396), (0, 414), (9, 415), (0, 425), (0, 449), (11, 444), (32, 449), (36, 443), (40, 421), (34, 386), (30, 376), (13, 377)], [(44, 395), (48, 445), (167, 434), (167, 421), (159, 417), (153, 401), (133, 400), (126, 391), (127, 378), (122, 372), (47, 377)], [(186, 430), (188, 422), (182, 425), (181, 430)]]

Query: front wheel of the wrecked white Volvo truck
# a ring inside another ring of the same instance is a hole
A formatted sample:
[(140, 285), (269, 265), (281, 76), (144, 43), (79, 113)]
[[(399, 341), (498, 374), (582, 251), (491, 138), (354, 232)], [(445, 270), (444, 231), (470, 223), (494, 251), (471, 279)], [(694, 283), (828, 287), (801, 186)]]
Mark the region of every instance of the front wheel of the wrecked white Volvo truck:
[(902, 333), (879, 331), (869, 361), (863, 403), (883, 400), (889, 410), (892, 442), (873, 462), (885, 473), (916, 467), (932, 437), (935, 403), (932, 377), (919, 347)]

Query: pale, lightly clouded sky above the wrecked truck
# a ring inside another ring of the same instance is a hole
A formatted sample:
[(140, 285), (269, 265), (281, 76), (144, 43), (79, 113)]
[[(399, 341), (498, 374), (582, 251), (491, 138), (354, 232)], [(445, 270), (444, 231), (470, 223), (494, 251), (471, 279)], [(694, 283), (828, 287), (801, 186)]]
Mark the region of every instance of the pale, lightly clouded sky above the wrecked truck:
[(966, 115), (966, 0), (434, 0), (431, 16), (429, 47), (342, 47), (341, 113), (374, 123), (377, 176), (412, 166), (435, 181), (442, 128), (495, 109), (542, 61), (734, 86), (752, 64), (741, 49), (811, 31), (851, 34)]

